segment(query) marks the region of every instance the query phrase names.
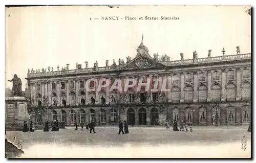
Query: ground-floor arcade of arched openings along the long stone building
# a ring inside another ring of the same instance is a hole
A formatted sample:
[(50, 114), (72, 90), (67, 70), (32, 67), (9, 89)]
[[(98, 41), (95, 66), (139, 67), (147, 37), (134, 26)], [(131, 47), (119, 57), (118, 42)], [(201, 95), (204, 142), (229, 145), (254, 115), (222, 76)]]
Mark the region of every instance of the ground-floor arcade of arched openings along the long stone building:
[(129, 125), (164, 125), (173, 120), (193, 125), (213, 125), (215, 117), (220, 125), (249, 124), (251, 117), (250, 103), (208, 103), (208, 104), (166, 104), (137, 105), (119, 107), (76, 107), (48, 108), (44, 112), (35, 111), (31, 120), (44, 123), (49, 120), (65, 122), (67, 126), (75, 122), (88, 124), (92, 120), (96, 125), (116, 125), (119, 120), (127, 121)]

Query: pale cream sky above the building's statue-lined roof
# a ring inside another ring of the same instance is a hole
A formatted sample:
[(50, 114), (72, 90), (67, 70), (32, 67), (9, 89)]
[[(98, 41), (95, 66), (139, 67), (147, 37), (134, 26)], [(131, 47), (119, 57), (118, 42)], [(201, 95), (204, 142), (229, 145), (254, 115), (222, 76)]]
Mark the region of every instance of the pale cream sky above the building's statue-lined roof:
[[(144, 35), (149, 53), (168, 55), (170, 60), (251, 53), (251, 16), (248, 6), (59, 6), (6, 9), (6, 82), (17, 74), (27, 80), (28, 68), (61, 67), (75, 69), (84, 61), (93, 67), (95, 61), (126, 56), (134, 58)], [(119, 16), (119, 20), (100, 20), (101, 16)], [(179, 20), (124, 20), (125, 16), (179, 17)], [(92, 20), (90, 20), (92, 17)], [(93, 18), (99, 18), (93, 20)], [(123, 18), (123, 19), (121, 19)], [(12, 83), (6, 87), (12, 88)]]

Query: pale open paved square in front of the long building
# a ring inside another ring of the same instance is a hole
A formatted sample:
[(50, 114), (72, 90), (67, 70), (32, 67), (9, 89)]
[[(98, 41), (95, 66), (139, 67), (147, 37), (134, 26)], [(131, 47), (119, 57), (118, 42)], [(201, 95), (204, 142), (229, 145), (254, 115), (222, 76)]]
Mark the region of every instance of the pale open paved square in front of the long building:
[(193, 132), (174, 132), (164, 127), (129, 127), (129, 134), (118, 135), (118, 127), (113, 126), (96, 126), (94, 134), (68, 127), (58, 132), (8, 131), (6, 137), (22, 140), (22, 157), (249, 157), (247, 128), (194, 127)]

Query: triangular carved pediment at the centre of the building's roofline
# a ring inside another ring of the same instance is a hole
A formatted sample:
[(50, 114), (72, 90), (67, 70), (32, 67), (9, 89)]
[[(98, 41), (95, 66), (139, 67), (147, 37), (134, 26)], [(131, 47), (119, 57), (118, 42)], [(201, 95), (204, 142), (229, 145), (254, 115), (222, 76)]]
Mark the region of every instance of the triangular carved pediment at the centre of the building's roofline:
[(145, 56), (135, 57), (131, 62), (124, 64), (120, 70), (126, 69), (145, 69), (145, 68), (164, 68), (165, 65)]

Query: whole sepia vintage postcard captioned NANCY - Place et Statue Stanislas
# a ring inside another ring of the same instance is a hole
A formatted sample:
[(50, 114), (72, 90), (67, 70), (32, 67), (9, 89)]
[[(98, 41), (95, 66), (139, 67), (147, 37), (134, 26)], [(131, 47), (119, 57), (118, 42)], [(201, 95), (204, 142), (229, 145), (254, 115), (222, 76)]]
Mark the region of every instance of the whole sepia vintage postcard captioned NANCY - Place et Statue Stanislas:
[(250, 6), (7, 6), (7, 158), (251, 158)]

